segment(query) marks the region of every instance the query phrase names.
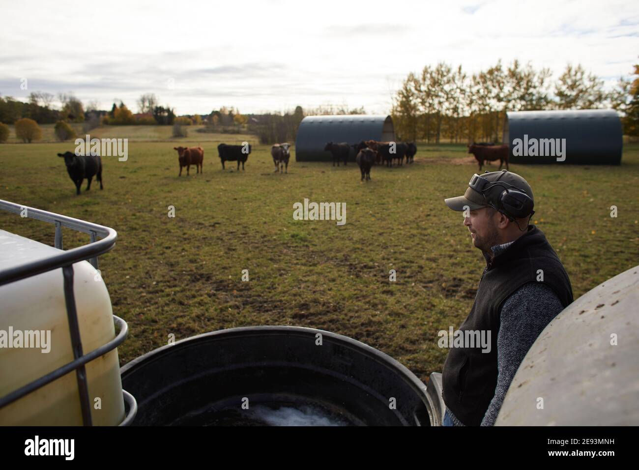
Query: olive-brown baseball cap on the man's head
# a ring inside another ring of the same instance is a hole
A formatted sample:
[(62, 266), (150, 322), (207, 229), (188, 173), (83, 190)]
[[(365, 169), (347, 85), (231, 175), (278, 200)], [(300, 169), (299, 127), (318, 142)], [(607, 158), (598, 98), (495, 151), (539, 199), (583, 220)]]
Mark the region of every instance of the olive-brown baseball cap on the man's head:
[[(488, 180), (488, 182), (483, 182), (481, 178)], [(482, 192), (473, 189), (471, 185), (479, 187), (480, 189), (485, 187), (486, 190), (484, 190), (482, 194)], [(520, 175), (505, 169), (502, 169), (501, 171), (486, 171), (486, 173), (483, 173), (482, 175), (475, 173), (475, 175), (470, 178), (470, 182), (468, 182), (468, 189), (466, 189), (463, 196), (448, 198), (443, 201), (452, 210), (464, 210), (466, 206), (468, 206), (470, 210), (482, 207), (498, 207), (497, 202), (499, 200), (499, 196), (505, 189), (513, 189), (513, 187), (514, 189), (519, 189), (520, 191), (525, 192), (534, 202), (532, 187), (530, 187), (528, 182)]]

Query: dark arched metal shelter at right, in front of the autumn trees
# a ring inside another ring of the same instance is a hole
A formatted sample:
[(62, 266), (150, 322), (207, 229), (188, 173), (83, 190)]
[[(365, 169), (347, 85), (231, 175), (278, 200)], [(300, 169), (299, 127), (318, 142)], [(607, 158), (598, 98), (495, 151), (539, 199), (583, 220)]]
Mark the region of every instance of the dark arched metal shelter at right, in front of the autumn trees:
[(510, 111), (506, 118), (511, 163), (621, 163), (623, 132), (612, 109)]

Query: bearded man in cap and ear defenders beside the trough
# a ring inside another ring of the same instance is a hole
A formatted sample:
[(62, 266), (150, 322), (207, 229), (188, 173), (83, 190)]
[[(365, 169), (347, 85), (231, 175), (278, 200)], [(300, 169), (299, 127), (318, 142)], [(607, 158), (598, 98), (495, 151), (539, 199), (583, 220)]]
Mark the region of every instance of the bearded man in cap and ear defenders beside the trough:
[(459, 330), (484, 332), (490, 348), (450, 349), (442, 372), (443, 424), (492, 426), (528, 349), (573, 302), (573, 289), (544, 233), (529, 224), (534, 198), (524, 178), (505, 169), (475, 174), (463, 196), (445, 203), (464, 212), (473, 246), (486, 258)]

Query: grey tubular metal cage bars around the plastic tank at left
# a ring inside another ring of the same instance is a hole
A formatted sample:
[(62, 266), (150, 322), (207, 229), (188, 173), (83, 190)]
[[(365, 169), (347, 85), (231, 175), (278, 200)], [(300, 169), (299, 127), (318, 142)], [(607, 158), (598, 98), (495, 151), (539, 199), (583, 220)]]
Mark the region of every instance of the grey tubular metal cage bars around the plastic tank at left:
[[(9, 201), (0, 200), (0, 209), (8, 212), (14, 212), (24, 217), (31, 219), (37, 219), (40, 221), (48, 222), (56, 226), (55, 235), (55, 247), (63, 249), (62, 244), (62, 228), (67, 227), (73, 230), (82, 231), (88, 233), (91, 236), (91, 242), (87, 245), (83, 245), (77, 248), (73, 248), (67, 251), (62, 251), (57, 255), (47, 256), (40, 260), (35, 260), (27, 263), (23, 263), (18, 266), (10, 267), (0, 270), (0, 286), (9, 284), (20, 279), (29, 278), (42, 274), (50, 270), (62, 268), (65, 290), (65, 303), (66, 303), (66, 315), (69, 323), (69, 331), (71, 335), (71, 343), (73, 349), (73, 361), (66, 363), (65, 365), (57, 368), (56, 370), (43, 375), (33, 382), (29, 382), (17, 390), (12, 391), (8, 395), (0, 398), (0, 408), (9, 405), (10, 403), (19, 400), (23, 396), (41, 388), (53, 380), (59, 379), (63, 375), (75, 370), (75, 375), (78, 384), (78, 390), (80, 393), (80, 403), (82, 409), (82, 423), (85, 426), (91, 426), (93, 424), (91, 419), (91, 404), (89, 401), (89, 389), (86, 378), (86, 369), (84, 365), (93, 361), (97, 357), (106, 354), (107, 352), (116, 349), (120, 345), (128, 334), (127, 322), (122, 320), (116, 315), (113, 315), (116, 327), (119, 328), (119, 333), (111, 341), (98, 347), (97, 349), (84, 354), (82, 352), (82, 341), (80, 338), (80, 328), (77, 318), (77, 310), (75, 307), (75, 295), (73, 294), (73, 263), (77, 263), (84, 260), (89, 260), (91, 265), (95, 269), (98, 269), (98, 256), (104, 255), (107, 251), (110, 251), (116, 243), (118, 233), (109, 227), (105, 227), (98, 224), (82, 221), (80, 219), (73, 219), (73, 217), (67, 217), (66, 215), (54, 214), (53, 212), (47, 212), (46, 210), (40, 210), (33, 207), (26, 207), (19, 204), (15, 204)], [(98, 237), (102, 237), (102, 240), (98, 240)], [(126, 416), (120, 423), (121, 426), (129, 425), (135, 418), (137, 412), (137, 403), (134, 396), (128, 393), (126, 390), (122, 390), (125, 405), (128, 407)], [(126, 411), (126, 410), (125, 410)]]

